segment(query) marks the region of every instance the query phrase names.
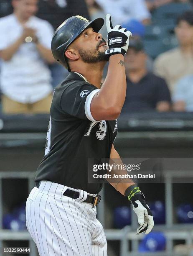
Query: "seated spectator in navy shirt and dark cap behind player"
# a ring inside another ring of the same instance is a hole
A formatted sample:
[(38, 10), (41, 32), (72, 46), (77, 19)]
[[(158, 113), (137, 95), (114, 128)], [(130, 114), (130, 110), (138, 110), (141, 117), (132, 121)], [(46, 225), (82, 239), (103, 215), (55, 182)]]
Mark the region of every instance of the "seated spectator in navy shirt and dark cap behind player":
[(131, 40), (125, 56), (127, 94), (122, 113), (170, 110), (170, 92), (164, 79), (147, 71), (142, 42)]

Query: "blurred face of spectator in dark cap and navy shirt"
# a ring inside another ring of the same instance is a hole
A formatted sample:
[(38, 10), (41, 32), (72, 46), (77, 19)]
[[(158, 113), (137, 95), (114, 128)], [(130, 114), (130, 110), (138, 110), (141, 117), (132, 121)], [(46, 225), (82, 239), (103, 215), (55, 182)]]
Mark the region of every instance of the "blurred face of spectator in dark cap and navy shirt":
[(125, 56), (125, 67), (128, 71), (142, 69), (146, 65), (146, 54), (143, 51), (128, 49)]

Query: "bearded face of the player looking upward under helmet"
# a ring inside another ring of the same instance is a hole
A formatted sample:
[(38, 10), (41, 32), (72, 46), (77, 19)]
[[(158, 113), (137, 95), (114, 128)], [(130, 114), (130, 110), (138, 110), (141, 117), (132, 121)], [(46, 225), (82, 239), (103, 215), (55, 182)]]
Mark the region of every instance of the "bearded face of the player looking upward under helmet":
[(100, 33), (87, 28), (76, 40), (76, 49), (81, 59), (86, 63), (107, 61), (109, 56), (105, 55), (108, 46)]

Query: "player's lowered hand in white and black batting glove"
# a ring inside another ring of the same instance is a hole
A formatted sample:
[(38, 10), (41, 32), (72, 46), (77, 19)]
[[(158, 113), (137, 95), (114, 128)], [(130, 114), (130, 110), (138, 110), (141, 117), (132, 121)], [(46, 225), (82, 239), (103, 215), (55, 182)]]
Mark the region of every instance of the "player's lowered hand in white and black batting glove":
[(142, 193), (136, 194), (131, 198), (133, 210), (137, 214), (138, 223), (140, 227), (137, 228), (137, 235), (145, 232), (149, 234), (153, 228), (153, 215), (150, 207), (147, 205), (145, 196)]

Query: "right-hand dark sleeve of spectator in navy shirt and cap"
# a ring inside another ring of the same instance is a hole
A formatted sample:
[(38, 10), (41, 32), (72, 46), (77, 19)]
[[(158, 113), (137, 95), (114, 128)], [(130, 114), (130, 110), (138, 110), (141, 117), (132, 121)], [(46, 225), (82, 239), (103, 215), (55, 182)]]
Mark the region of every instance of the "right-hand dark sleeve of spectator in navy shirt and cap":
[(160, 101), (168, 101), (171, 102), (170, 90), (168, 89), (168, 85), (166, 84), (165, 80), (158, 77), (157, 85), (157, 102)]

